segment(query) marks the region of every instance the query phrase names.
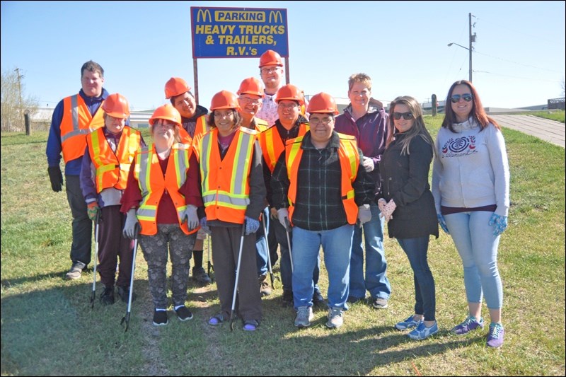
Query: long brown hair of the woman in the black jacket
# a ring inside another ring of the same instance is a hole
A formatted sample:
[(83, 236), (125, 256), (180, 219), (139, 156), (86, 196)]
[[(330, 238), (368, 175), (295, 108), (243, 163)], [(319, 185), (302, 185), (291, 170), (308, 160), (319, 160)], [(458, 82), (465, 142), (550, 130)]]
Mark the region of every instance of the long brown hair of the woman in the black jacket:
[(400, 141), (401, 144), (401, 154), (408, 155), (409, 154), (409, 146), (413, 137), (422, 137), (427, 144), (432, 146), (432, 150), (434, 152), (434, 141), (432, 141), (432, 137), (430, 136), (427, 127), (424, 125), (424, 120), (422, 119), (422, 108), (420, 107), (419, 103), (415, 98), (410, 97), (409, 95), (403, 95), (397, 97), (389, 104), (389, 120), (387, 122), (388, 127), (388, 136), (386, 140), (385, 147), (386, 149), (389, 148), (389, 144), (393, 141), (395, 137), (395, 133), (398, 133), (395, 129), (395, 122), (393, 120), (393, 112), (395, 112), (396, 105), (405, 105), (409, 108), (412, 117), (415, 118), (413, 121), (412, 127), (408, 129), (405, 134), (407, 135)]

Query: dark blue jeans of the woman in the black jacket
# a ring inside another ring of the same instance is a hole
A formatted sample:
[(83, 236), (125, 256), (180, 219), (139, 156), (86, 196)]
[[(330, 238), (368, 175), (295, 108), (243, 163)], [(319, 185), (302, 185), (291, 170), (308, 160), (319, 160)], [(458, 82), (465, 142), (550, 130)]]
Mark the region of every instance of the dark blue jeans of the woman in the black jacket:
[(412, 279), (415, 282), (415, 314), (424, 314), (424, 320), (436, 320), (434, 278), (427, 261), (429, 236), (398, 238), (397, 242), (405, 251), (412, 268)]

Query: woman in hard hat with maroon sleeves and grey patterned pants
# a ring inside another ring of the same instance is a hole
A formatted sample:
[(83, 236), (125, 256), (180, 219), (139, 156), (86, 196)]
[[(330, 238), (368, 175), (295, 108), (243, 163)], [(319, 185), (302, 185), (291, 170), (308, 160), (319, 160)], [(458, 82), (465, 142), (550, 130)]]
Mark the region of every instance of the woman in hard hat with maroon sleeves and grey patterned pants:
[(157, 108), (149, 119), (154, 143), (137, 151), (129, 170), (121, 211), (124, 233), (135, 238), (147, 262), (154, 301), (154, 325), (167, 325), (167, 259), (171, 256), (173, 308), (181, 321), (192, 319), (185, 306), (189, 260), (202, 207), (198, 163), (192, 146), (178, 141), (181, 117), (172, 105)]

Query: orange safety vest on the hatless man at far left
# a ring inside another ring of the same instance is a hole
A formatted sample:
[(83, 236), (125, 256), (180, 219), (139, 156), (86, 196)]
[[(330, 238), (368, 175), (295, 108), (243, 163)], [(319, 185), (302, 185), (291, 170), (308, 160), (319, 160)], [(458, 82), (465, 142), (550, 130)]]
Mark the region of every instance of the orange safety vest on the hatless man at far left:
[[(104, 103), (104, 101), (103, 101)], [(63, 119), (61, 130), (61, 148), (65, 163), (83, 156), (86, 149), (86, 135), (104, 125), (102, 104), (94, 114), (88, 111), (83, 98), (76, 94), (63, 99)]]

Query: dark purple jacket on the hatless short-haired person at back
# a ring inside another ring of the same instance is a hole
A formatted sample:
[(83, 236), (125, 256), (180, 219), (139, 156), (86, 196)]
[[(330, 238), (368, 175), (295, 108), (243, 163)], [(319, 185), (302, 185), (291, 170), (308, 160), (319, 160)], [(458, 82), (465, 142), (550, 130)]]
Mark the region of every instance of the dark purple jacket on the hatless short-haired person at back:
[(377, 195), (381, 189), (379, 163), (381, 162), (381, 155), (385, 151), (388, 115), (383, 108), (372, 106), (371, 103), (366, 115), (356, 121), (354, 121), (351, 111), (352, 104), (344, 109), (343, 114), (336, 117), (334, 129), (341, 134), (356, 137), (359, 149), (362, 149), (364, 156), (371, 157), (374, 160), (375, 168), (369, 175), (376, 184), (375, 194)]

